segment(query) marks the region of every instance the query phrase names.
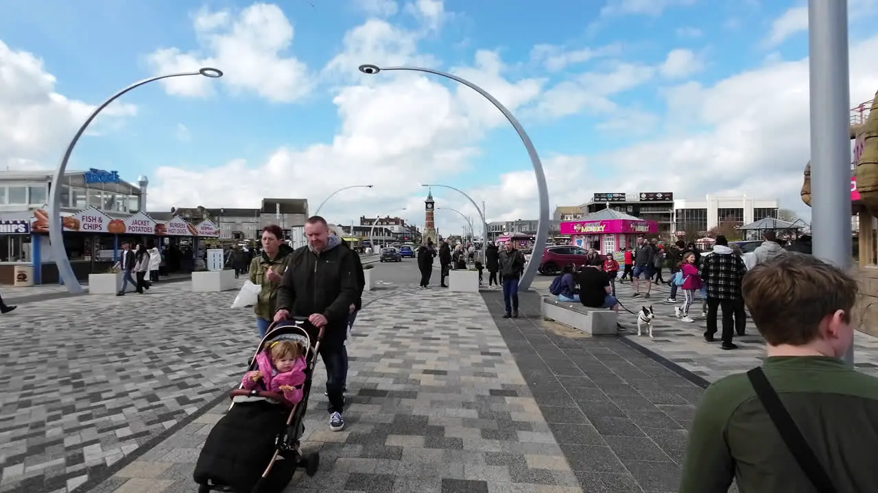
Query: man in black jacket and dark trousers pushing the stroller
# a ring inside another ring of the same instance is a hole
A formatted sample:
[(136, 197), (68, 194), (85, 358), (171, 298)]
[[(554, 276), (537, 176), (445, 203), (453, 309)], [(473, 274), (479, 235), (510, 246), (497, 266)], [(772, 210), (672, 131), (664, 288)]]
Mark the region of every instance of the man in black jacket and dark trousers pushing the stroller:
[[(276, 226), (277, 227), (277, 226)], [(356, 260), (342, 239), (329, 234), (327, 221), (312, 216), (305, 222), (308, 244), (290, 255), (289, 268), (277, 288), (274, 321), (306, 317), (323, 328), (320, 357), (327, 369), (329, 429), (344, 429), (344, 384), (350, 305), (359, 297)]]

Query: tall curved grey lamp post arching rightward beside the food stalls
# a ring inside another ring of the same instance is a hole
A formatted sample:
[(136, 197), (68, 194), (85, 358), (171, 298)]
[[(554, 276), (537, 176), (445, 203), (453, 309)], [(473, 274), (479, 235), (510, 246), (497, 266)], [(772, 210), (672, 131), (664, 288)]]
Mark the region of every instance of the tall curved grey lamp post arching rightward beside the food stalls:
[(98, 113), (118, 99), (119, 96), (126, 94), (126, 92), (132, 89), (139, 88), (144, 84), (148, 84), (149, 82), (161, 81), (162, 79), (169, 79), (171, 77), (183, 77), (184, 75), (203, 75), (205, 77), (216, 79), (222, 77), (223, 73), (222, 70), (219, 70), (218, 68), (203, 67), (199, 68), (196, 72), (157, 75), (155, 77), (143, 79), (142, 81), (134, 82), (125, 89), (110, 96), (110, 98), (104, 101), (104, 103), (97, 106), (95, 111), (91, 112), (89, 118), (85, 119), (85, 123), (79, 127), (79, 130), (73, 136), (73, 139), (70, 140), (70, 143), (67, 146), (67, 151), (64, 152), (64, 157), (61, 159), (61, 163), (58, 165), (58, 168), (55, 169), (54, 177), (52, 179), (52, 195), (49, 197), (49, 242), (52, 247), (52, 258), (54, 259), (55, 265), (58, 267), (58, 275), (61, 277), (61, 281), (64, 282), (64, 285), (70, 293), (77, 295), (82, 293), (83, 286), (76, 279), (76, 274), (74, 274), (73, 268), (70, 266), (70, 260), (67, 257), (67, 250), (64, 248), (63, 228), (60, 220), (61, 204), (59, 204), (59, 201), (61, 200), (61, 186), (59, 186), (59, 184), (61, 183), (61, 178), (64, 177), (64, 172), (67, 171), (67, 161), (70, 160), (70, 155), (73, 154), (73, 148), (76, 147), (79, 138), (83, 136), (85, 129), (89, 127), (91, 122), (97, 117)]

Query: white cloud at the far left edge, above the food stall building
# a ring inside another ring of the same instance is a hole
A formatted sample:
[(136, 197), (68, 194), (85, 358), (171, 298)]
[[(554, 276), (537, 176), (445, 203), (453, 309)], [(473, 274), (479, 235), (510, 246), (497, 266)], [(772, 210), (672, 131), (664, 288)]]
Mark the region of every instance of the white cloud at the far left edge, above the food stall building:
[[(94, 109), (55, 92), (54, 75), (43, 61), (0, 40), (0, 169), (53, 166)], [(119, 122), (118, 117), (136, 112), (132, 104), (111, 104), (86, 136), (101, 134), (107, 125)]]

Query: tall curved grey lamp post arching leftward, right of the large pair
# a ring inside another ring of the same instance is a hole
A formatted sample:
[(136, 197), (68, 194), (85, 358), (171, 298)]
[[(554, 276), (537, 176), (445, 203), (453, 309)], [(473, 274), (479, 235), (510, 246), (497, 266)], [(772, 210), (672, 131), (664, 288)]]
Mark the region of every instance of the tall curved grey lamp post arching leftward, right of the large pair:
[[(539, 222), (536, 225), (536, 241), (534, 245), (534, 254), (530, 259), (530, 263), (528, 267), (524, 270), (524, 275), (522, 276), (522, 281), (519, 282), (520, 289), (529, 289), (530, 282), (534, 280), (534, 276), (536, 275), (536, 271), (540, 266), (540, 262), (543, 261), (543, 250), (546, 246), (546, 240), (549, 239), (549, 187), (546, 185), (546, 176), (543, 172), (543, 163), (540, 162), (540, 156), (536, 154), (536, 149), (534, 148), (534, 144), (530, 141), (530, 137), (527, 132), (524, 132), (524, 128), (522, 128), (522, 124), (518, 123), (518, 119), (513, 116), (513, 114), (507, 110), (506, 106), (500, 104), (500, 101), (497, 101), (494, 96), (491, 96), (485, 89), (480, 88), (476, 84), (467, 81), (466, 79), (462, 79), (457, 75), (451, 75), (445, 72), (440, 72), (439, 70), (434, 70), (432, 68), (421, 68), (421, 67), (378, 67), (377, 65), (361, 65), (360, 72), (367, 75), (375, 75), (381, 71), (389, 71), (389, 70), (409, 70), (414, 72), (423, 72), (426, 74), (440, 75), (445, 77), (446, 79), (451, 79), (455, 82), (460, 82), (467, 86), (468, 88), (478, 92), (480, 95), (484, 96), (488, 101), (491, 102), (506, 119), (509, 123), (515, 128), (515, 132), (518, 132), (518, 136), (522, 139), (522, 143), (525, 148), (528, 150), (528, 155), (530, 157), (530, 162), (534, 167), (534, 175), (536, 175), (536, 189), (540, 195), (540, 216)], [(459, 190), (458, 190), (459, 191)], [(474, 204), (474, 203), (473, 203)], [(479, 207), (476, 207), (479, 210)], [(480, 210), (479, 210), (480, 211)], [(482, 224), (485, 224), (484, 214), (482, 215)], [(487, 228), (486, 228), (487, 229)], [(487, 231), (485, 234), (484, 241), (487, 241)], [(483, 242), (484, 249), (484, 242)]]

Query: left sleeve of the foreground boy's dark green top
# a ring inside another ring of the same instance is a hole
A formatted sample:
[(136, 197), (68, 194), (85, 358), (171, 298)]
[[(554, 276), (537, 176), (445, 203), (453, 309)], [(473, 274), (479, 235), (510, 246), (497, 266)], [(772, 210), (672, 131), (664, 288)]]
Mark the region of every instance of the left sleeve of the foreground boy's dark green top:
[(711, 385), (704, 391), (695, 411), (680, 493), (726, 493), (735, 477), (735, 462), (725, 439), (730, 408), (738, 403), (721, 387)]

